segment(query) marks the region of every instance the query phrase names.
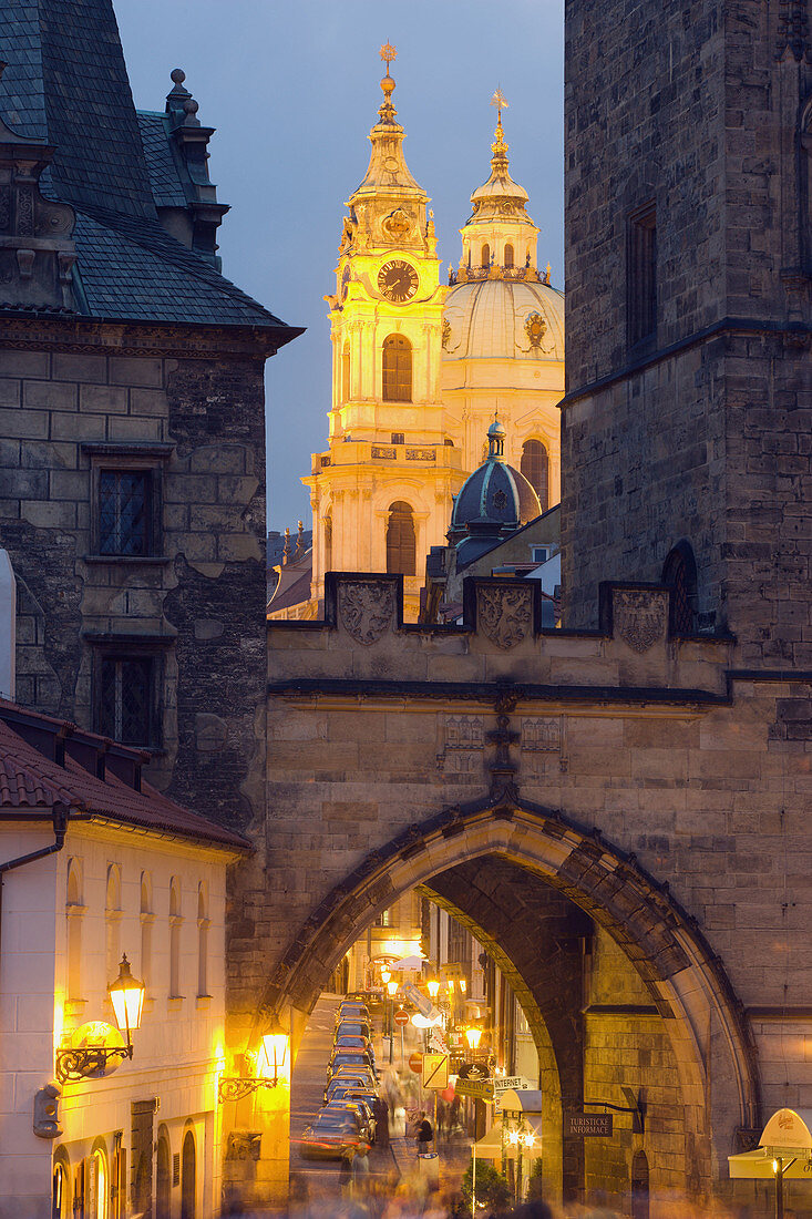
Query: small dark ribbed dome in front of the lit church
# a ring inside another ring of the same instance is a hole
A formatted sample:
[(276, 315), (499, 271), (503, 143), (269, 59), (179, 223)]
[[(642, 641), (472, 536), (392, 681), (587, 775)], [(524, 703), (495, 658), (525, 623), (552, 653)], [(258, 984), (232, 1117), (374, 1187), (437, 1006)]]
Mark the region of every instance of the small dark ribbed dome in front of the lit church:
[(541, 514), (532, 484), (507, 464), (504, 449), (505, 428), (495, 419), (488, 429), (486, 460), (468, 475), (454, 500), (449, 540), (458, 542), (463, 564)]

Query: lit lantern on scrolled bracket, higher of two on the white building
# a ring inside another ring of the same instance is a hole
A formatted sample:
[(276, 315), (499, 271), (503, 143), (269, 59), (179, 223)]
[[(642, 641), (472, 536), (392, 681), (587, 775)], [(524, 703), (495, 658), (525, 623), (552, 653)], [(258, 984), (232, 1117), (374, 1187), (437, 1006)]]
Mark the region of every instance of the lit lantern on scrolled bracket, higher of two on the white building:
[[(56, 1052), (56, 1078), (60, 1084), (94, 1076), (101, 1079), (115, 1070), (116, 1058), (123, 1062), (124, 1058), (133, 1057), (132, 1034), (141, 1024), (145, 990), (144, 983), (133, 978), (124, 953), (118, 978), (107, 987), (118, 1032), (104, 1020), (91, 1020), (77, 1029), (73, 1041), (78, 1045)], [(115, 1039), (122, 1041), (122, 1035), (126, 1035), (126, 1042), (116, 1045)]]

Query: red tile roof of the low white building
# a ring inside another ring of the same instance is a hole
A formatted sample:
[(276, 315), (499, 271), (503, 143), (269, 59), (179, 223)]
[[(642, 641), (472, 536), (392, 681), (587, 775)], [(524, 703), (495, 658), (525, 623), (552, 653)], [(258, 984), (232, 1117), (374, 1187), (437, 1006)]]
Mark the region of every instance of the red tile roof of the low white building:
[[(15, 712), (23, 708), (15, 707)], [(27, 809), (50, 809), (57, 802), (83, 818), (99, 817), (194, 841), (250, 847), (241, 834), (190, 813), (148, 783), (135, 791), (110, 772), (105, 779), (98, 779), (69, 756), (60, 766), (0, 718), (0, 809), (24, 814)]]

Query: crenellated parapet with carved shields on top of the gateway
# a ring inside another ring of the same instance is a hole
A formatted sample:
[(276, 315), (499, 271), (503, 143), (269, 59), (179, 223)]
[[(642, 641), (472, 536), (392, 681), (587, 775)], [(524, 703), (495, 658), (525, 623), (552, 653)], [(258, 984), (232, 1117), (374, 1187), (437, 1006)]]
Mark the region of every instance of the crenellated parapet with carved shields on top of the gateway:
[(646, 714), (727, 705), (734, 641), (677, 634), (672, 595), (605, 584), (600, 629), (569, 631), (541, 625), (538, 581), (469, 578), (462, 622), (426, 625), (404, 622), (402, 577), (330, 573), (322, 620), (269, 623), (269, 690), (493, 705), (510, 688), (523, 703), (597, 701)]

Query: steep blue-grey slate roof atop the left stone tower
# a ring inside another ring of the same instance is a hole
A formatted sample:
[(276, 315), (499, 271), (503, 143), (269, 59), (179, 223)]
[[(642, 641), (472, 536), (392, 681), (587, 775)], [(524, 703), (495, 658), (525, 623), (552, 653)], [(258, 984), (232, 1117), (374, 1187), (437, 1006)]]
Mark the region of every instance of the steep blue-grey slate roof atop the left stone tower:
[(301, 333), (161, 227), (156, 205), (187, 197), (162, 116), (137, 115), (111, 0), (0, 0), (0, 117), (56, 146), (40, 185), (77, 213), (79, 313)]

